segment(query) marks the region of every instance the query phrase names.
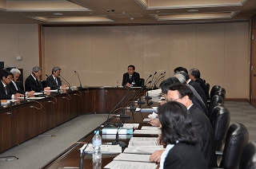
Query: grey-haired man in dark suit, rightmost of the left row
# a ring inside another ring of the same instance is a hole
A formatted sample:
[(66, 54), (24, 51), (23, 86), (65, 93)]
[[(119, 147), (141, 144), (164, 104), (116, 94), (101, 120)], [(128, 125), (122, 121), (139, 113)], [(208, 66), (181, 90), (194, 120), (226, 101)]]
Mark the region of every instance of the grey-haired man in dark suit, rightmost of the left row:
[(67, 85), (62, 85), (61, 78), (59, 78), (61, 70), (59, 67), (54, 67), (51, 71), (51, 76), (46, 78), (46, 86), (49, 86), (50, 89), (67, 87)]

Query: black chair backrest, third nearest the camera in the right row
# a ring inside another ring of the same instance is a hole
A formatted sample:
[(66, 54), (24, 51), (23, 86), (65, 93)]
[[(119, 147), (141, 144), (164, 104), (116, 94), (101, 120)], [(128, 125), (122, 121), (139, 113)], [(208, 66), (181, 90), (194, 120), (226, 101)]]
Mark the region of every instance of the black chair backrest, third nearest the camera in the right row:
[(215, 150), (221, 151), (230, 126), (230, 111), (223, 104), (215, 106), (210, 115), (210, 123), (214, 128)]

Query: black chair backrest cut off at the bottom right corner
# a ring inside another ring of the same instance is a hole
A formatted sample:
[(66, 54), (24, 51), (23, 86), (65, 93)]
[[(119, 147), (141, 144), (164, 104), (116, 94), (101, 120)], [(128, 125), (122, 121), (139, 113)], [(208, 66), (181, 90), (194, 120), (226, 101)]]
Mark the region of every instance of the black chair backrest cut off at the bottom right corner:
[(255, 169), (256, 168), (256, 142), (246, 144), (242, 151), (239, 163), (239, 169)]

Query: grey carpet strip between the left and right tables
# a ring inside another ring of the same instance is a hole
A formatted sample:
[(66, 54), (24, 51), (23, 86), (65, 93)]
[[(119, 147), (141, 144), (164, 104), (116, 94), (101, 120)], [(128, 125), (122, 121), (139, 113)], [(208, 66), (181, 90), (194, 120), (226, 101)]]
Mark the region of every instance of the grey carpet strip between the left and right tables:
[[(0, 157), (14, 155), (14, 161), (3, 161), (0, 158), (1, 169), (38, 169), (50, 159), (66, 150), (70, 144), (80, 140), (83, 136), (106, 120), (106, 114), (88, 114), (74, 118), (40, 136), (21, 143)], [(50, 137), (54, 135), (54, 137)]]

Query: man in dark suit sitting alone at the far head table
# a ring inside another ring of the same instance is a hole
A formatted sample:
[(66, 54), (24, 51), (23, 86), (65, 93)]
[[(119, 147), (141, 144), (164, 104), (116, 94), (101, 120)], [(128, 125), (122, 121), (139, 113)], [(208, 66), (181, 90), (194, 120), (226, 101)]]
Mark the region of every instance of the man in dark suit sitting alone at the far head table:
[(135, 66), (129, 65), (128, 66), (128, 72), (124, 73), (122, 76), (122, 86), (127, 87), (139, 87), (139, 73), (134, 72)]

